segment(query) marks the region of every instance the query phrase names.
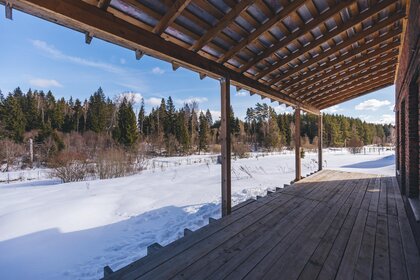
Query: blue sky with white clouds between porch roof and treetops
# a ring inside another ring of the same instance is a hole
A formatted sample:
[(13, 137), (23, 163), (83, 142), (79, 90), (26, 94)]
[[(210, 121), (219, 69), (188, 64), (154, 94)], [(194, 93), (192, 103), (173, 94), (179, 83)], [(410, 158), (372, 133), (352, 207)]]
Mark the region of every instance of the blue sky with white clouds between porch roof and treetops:
[[(196, 100), (200, 109), (220, 114), (219, 83), (186, 69), (172, 71), (169, 63), (148, 56), (135, 59), (131, 50), (94, 38), (85, 44), (84, 35), (36, 17), (13, 11), (13, 21), (0, 18), (0, 89), (4, 94), (20, 86), (51, 90), (57, 97), (85, 99), (100, 86), (111, 98), (123, 92), (143, 97), (146, 109), (162, 97), (172, 96), (176, 106)], [(247, 92), (231, 90), (235, 114), (264, 102)], [(267, 99), (265, 99), (267, 100)], [(269, 103), (278, 112), (290, 111)], [(394, 122), (394, 87), (353, 99), (325, 110), (360, 117), (369, 122)]]

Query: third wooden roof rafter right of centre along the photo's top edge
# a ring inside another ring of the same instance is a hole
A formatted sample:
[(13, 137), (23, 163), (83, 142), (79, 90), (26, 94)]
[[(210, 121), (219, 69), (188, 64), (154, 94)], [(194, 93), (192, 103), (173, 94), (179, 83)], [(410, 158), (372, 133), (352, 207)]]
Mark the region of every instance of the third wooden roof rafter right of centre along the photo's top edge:
[(354, 2), (356, 2), (356, 0), (340, 1), (338, 4), (336, 4), (334, 7), (330, 8), (323, 14), (313, 15), (314, 19), (312, 21), (305, 24), (304, 26), (301, 26), (298, 31), (293, 32), (292, 34), (289, 34), (288, 36), (285, 36), (285, 38), (282, 39), (281, 41), (275, 42), (271, 47), (266, 48), (261, 54), (258, 54), (257, 56), (253, 57), (248, 63), (246, 63), (240, 68), (240, 72), (247, 71), (249, 68), (257, 64), (261, 60), (269, 57), (270, 55), (272, 55), (274, 52), (278, 51), (279, 49), (286, 47), (288, 44), (290, 44), (294, 40), (310, 32), (312, 29), (316, 28), (318, 25), (322, 24), (324, 21), (334, 16), (335, 14), (339, 13), (342, 9), (346, 8), (347, 6), (349, 6), (350, 4)]

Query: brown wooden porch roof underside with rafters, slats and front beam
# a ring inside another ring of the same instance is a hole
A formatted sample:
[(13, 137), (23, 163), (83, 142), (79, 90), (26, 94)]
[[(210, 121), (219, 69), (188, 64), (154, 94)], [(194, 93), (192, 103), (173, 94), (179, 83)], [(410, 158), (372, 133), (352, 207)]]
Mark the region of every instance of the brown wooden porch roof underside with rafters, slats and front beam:
[(405, 0), (0, 0), (318, 114), (392, 85)]

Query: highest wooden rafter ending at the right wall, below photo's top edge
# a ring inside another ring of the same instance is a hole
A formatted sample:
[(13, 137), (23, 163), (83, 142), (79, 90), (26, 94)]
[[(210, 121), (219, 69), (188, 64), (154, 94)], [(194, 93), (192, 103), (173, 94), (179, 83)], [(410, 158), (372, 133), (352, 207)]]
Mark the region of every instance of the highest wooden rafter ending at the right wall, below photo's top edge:
[[(329, 49), (328, 51), (325, 51), (321, 54), (319, 54), (318, 56), (316, 56), (315, 58), (310, 58), (307, 62), (302, 63), (301, 65), (299, 65), (298, 67), (295, 67), (293, 70), (287, 71), (286, 73), (280, 74), (278, 75), (276, 78), (272, 79), (271, 81), (269, 81), (271, 84), (275, 85), (278, 82), (287, 79), (288, 77), (290, 77), (291, 75), (295, 74), (296, 72), (299, 72), (301, 70), (303, 70), (304, 68), (313, 65), (314, 63), (317, 63), (337, 52), (339, 52), (340, 50), (360, 41), (360, 40), (364, 40), (366, 37), (368, 37), (369, 35), (371, 35), (372, 33), (375, 33), (381, 29), (383, 29), (384, 27), (387, 27), (389, 25), (395, 24), (395, 22), (401, 18), (404, 17), (403, 13), (397, 13), (397, 14), (393, 14), (392, 16), (390, 16), (389, 18), (387, 18), (386, 20), (383, 20), (377, 24), (374, 24), (372, 27), (357, 33), (355, 36), (348, 38), (346, 40), (344, 40), (342, 43), (332, 47), (331, 49)], [(275, 69), (273, 69), (274, 71)]]

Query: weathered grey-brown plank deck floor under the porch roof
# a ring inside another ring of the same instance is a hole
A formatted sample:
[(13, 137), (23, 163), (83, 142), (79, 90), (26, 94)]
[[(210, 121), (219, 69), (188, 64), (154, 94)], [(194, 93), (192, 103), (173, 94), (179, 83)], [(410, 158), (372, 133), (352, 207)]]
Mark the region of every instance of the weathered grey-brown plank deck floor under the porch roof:
[(395, 178), (324, 170), (107, 279), (420, 279)]

